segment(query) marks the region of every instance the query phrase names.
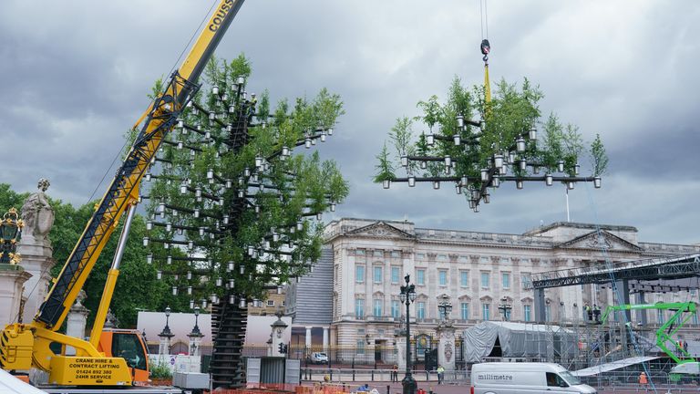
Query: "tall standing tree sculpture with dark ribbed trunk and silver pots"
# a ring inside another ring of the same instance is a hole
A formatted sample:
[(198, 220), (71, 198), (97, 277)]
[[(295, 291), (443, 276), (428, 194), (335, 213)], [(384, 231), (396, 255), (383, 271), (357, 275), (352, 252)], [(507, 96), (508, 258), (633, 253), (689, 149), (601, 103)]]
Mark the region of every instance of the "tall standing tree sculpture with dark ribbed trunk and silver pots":
[(271, 113), (266, 92), (246, 91), (250, 73), (244, 57), (212, 60), (206, 88), (164, 141), (159, 173), (146, 176), (148, 258), (179, 299), (171, 305), (211, 306), (214, 387), (242, 384), (247, 302), (308, 271), (322, 244), (314, 220), (348, 192), (335, 162), (293, 154), (333, 135), (340, 98), (323, 89)]

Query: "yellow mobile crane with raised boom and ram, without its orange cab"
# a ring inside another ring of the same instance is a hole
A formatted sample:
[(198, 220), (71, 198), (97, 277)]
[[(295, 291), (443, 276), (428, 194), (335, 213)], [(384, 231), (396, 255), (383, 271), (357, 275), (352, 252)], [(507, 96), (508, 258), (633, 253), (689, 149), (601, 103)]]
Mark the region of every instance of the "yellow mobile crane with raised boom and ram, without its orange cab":
[[(140, 132), (122, 163), (108, 191), (97, 204), (96, 211), (61, 273), (57, 276), (46, 300), (34, 320), (28, 324), (15, 323), (5, 327), (0, 336), (0, 365), (7, 370), (40, 368), (49, 373), (49, 383), (57, 385), (121, 386), (133, 384), (134, 371), (126, 360), (105, 357), (98, 351), (99, 337), (104, 327), (108, 306), (118, 278), (118, 265), (124, 242), (129, 234), (131, 218), (139, 202), (139, 185), (160, 143), (176, 124), (181, 111), (199, 89), (197, 81), (221, 42), (228, 26), (244, 0), (221, 0), (204, 26), (181, 67), (171, 76), (164, 92), (144, 111), (134, 125)], [(68, 309), (76, 300), (109, 237), (127, 214), (118, 251), (108, 272), (105, 291), (100, 299), (90, 341), (57, 333), (65, 321)], [(61, 354), (49, 345), (60, 344)], [(76, 356), (66, 356), (67, 346), (76, 349)]]

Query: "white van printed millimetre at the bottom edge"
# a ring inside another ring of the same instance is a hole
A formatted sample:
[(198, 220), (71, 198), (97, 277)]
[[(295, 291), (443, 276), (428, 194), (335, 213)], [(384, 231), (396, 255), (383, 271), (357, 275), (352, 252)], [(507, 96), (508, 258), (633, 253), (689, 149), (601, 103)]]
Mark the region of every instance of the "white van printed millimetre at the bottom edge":
[(471, 368), (470, 394), (581, 393), (596, 390), (553, 363), (481, 363)]

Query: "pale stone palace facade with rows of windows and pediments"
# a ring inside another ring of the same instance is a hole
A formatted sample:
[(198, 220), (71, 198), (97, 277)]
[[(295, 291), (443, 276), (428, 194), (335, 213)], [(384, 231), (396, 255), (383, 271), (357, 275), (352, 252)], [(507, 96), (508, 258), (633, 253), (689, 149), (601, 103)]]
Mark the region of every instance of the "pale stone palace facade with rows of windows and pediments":
[[(551, 223), (522, 234), (478, 233), (344, 218), (326, 226), (324, 258), (315, 273), (288, 289), (287, 313), (293, 316), (297, 340), (303, 341), (305, 333), (307, 344), (315, 327), (323, 329), (323, 339), (314, 335), (314, 345), (362, 346), (371, 341), (373, 346), (391, 346), (405, 315), (399, 293), (406, 275), (417, 293), (410, 306), (412, 332), (428, 333), (438, 324), (438, 302), (444, 296), (458, 330), (506, 317), (533, 322), (530, 275), (700, 252), (699, 245), (641, 243), (637, 233), (632, 226), (587, 223)], [(322, 276), (315, 280), (315, 275)], [(696, 291), (649, 294), (645, 302), (685, 301), (696, 298)], [(305, 305), (308, 301), (294, 296), (300, 294), (323, 302)], [(583, 306), (604, 307), (614, 300), (605, 285), (548, 288), (544, 298), (540, 314), (549, 322), (582, 319)], [(313, 321), (304, 310), (313, 311)], [(663, 313), (649, 315), (649, 324), (664, 320)]]

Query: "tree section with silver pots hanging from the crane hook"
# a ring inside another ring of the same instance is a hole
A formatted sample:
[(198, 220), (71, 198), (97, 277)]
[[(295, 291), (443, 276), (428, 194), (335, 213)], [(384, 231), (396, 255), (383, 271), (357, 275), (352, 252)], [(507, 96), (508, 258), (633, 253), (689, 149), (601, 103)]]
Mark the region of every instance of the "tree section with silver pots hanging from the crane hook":
[[(570, 189), (577, 181), (593, 181), (600, 187), (608, 161), (600, 137), (590, 150), (592, 176), (579, 176), (582, 136), (576, 126), (562, 124), (554, 114), (542, 119), (542, 97), (528, 79), (520, 87), (501, 80), (487, 100), (483, 87), (469, 90), (454, 78), (444, 103), (432, 96), (418, 102), (421, 115), (396, 119), (389, 131), (395, 154), (390, 155), (385, 144), (377, 156), (375, 181), (385, 188), (392, 181), (407, 181), (409, 186), (430, 181), (436, 189), (442, 181), (454, 182), (476, 212), (480, 202), (490, 200), (487, 188), (498, 188), (502, 181), (514, 181), (518, 189), (525, 181), (561, 181)], [(427, 132), (416, 136), (413, 128), (420, 124)], [(406, 177), (396, 176), (400, 167)]]

